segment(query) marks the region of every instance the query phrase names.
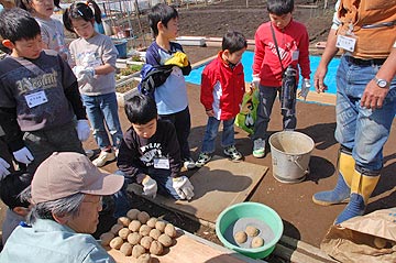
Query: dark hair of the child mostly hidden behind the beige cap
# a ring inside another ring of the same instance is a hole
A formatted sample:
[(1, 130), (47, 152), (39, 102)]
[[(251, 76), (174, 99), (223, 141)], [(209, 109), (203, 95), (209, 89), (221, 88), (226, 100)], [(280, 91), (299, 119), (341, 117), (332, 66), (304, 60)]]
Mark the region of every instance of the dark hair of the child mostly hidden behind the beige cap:
[(16, 171), (0, 182), (0, 198), (10, 208), (25, 207), (30, 202), (21, 200), (20, 194), (31, 185), (33, 175), (26, 172)]

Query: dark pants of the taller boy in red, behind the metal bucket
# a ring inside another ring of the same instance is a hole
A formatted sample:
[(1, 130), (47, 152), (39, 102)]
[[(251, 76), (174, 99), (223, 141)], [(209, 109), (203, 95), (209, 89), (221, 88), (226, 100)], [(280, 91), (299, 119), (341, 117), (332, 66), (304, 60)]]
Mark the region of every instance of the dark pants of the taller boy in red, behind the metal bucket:
[[(271, 112), (274, 106), (276, 95), (279, 95), (280, 100), (280, 87), (266, 87), (258, 86), (258, 106), (256, 113), (256, 121), (254, 123), (254, 134), (253, 140), (256, 139), (268, 139), (267, 129), (271, 120)], [(283, 116), (283, 129), (284, 130), (294, 130), (297, 125), (296, 118), (296, 100), (293, 102), (293, 107), (289, 110), (282, 109), (280, 113)]]

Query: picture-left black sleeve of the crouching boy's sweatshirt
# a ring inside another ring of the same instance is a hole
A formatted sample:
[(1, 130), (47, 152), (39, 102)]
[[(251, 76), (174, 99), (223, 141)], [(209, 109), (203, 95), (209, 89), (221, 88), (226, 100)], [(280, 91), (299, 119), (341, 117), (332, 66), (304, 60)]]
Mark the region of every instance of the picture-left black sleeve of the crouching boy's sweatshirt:
[(131, 129), (125, 132), (124, 139), (121, 142), (117, 166), (127, 177), (135, 180), (138, 175), (146, 173), (142, 162), (139, 160), (140, 153)]

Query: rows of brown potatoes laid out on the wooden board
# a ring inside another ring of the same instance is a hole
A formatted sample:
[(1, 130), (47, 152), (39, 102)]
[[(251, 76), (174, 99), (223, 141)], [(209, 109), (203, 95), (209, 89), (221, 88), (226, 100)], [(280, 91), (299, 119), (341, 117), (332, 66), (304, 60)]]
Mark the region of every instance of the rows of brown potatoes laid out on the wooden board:
[[(120, 217), (110, 232), (100, 235), (103, 246), (120, 250), (121, 253), (140, 257), (146, 253), (161, 255), (164, 246), (170, 246), (176, 237), (176, 229), (172, 223), (150, 217), (145, 211), (131, 209), (127, 217)], [(146, 256), (145, 256), (146, 257)]]

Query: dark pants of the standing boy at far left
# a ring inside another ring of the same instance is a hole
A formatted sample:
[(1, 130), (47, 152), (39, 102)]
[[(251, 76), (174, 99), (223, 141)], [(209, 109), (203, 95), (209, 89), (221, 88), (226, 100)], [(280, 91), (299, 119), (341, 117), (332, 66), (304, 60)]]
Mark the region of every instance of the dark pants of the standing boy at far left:
[(33, 162), (28, 165), (28, 172), (31, 174), (34, 174), (38, 165), (53, 152), (85, 154), (74, 121), (50, 130), (24, 132), (23, 142), (34, 157)]

